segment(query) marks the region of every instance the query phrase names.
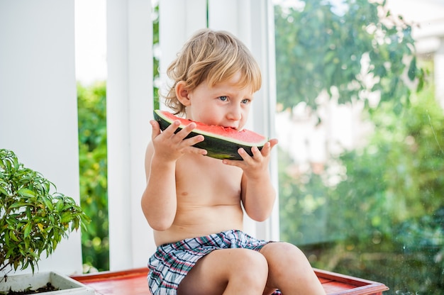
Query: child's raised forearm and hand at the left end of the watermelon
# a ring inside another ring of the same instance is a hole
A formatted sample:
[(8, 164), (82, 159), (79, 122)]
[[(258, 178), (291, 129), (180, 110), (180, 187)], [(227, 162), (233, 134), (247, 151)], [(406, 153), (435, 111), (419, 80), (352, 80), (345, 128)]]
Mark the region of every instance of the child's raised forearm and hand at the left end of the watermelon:
[(145, 152), (147, 186), (143, 191), (141, 206), (145, 218), (154, 230), (167, 230), (174, 221), (177, 210), (176, 161), (186, 153), (206, 154), (192, 145), (204, 140), (202, 135), (184, 139), (196, 128), (195, 123), (180, 130), (175, 121), (163, 132), (156, 121), (152, 125), (152, 140)]

